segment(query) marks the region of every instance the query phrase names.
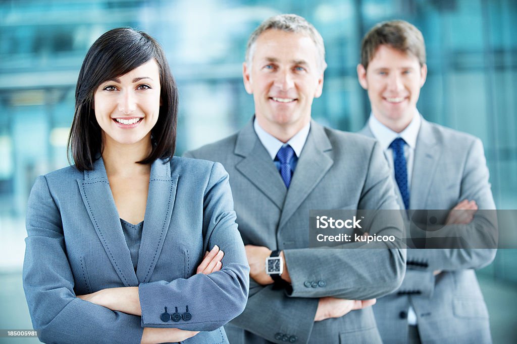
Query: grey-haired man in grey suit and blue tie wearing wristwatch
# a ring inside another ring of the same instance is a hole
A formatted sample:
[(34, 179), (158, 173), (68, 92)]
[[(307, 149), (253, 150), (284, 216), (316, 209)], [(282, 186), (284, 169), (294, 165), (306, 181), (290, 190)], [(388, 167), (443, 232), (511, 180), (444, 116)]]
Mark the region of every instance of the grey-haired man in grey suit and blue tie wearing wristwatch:
[(232, 344), (381, 343), (369, 306), (404, 276), (403, 250), (309, 248), (310, 209), (397, 208), (378, 144), (311, 120), (325, 68), (310, 23), (294, 14), (267, 19), (242, 70), (255, 116), (186, 153), (230, 174), (252, 277), (244, 313), (226, 326)]

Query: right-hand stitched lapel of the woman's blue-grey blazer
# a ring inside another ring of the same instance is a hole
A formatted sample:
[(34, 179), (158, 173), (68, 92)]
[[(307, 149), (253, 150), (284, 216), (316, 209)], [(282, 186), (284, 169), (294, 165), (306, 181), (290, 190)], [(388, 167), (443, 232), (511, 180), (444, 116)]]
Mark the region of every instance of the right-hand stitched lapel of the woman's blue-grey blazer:
[(177, 183), (178, 175), (171, 176), (169, 162), (163, 163), (160, 159), (153, 162), (136, 268), (136, 276), (140, 283), (149, 282), (160, 256), (171, 222)]

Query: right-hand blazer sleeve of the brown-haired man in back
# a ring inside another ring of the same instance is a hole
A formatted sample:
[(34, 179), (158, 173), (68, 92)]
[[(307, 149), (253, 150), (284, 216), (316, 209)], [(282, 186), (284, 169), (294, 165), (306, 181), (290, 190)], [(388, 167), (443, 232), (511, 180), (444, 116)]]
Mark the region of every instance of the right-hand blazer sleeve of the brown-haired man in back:
[(480, 269), (492, 263), (497, 247), (497, 217), (483, 144), (478, 138), (470, 144), (465, 159), (458, 202), (465, 199), (474, 200), (478, 205), (473, 221), (465, 225), (444, 226), (443, 230), (468, 238), (467, 241), (474, 243), (476, 248), (409, 250), (408, 270)]

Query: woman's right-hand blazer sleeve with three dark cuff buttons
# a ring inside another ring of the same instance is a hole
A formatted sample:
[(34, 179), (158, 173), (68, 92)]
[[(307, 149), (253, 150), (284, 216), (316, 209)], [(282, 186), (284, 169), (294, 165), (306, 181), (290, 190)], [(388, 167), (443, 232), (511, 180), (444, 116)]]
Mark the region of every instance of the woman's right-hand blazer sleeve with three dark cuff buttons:
[[(174, 327), (189, 331), (214, 331), (239, 315), (248, 298), (249, 266), (244, 244), (237, 231), (228, 174), (214, 163), (203, 200), (203, 233), (207, 247), (218, 245), (224, 252), (223, 266), (211, 274), (196, 274), (172, 282), (139, 285), (142, 326)], [(163, 322), (164, 307), (173, 306), (191, 319)]]

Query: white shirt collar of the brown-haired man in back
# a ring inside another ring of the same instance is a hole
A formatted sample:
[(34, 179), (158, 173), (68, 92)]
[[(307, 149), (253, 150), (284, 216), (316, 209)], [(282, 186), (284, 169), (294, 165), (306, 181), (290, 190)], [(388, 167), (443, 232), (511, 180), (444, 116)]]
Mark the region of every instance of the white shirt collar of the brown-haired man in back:
[(373, 113), (370, 114), (370, 119), (368, 120), (368, 126), (373, 134), (373, 136), (381, 143), (381, 146), (384, 150), (389, 148), (391, 142), (394, 139), (401, 137), (406, 141), (407, 145), (410, 148), (415, 148), (417, 143), (418, 132), (420, 130), (420, 123), (422, 122), (421, 114), (416, 111), (415, 116), (409, 123), (409, 125), (402, 130), (402, 132), (397, 133), (388, 128), (386, 125), (382, 124), (373, 116)]

